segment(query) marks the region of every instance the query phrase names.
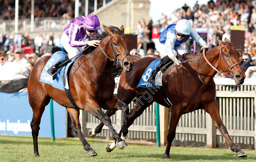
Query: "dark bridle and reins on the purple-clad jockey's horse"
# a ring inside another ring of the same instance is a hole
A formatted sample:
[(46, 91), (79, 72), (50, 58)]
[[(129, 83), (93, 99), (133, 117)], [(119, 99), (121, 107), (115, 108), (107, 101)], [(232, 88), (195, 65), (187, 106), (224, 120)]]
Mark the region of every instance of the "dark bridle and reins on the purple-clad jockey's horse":
[[(116, 62), (116, 65), (119, 65), (119, 64), (121, 64), (121, 63), (123, 64), (124, 58), (125, 58), (127, 55), (130, 55), (130, 52), (116, 53), (116, 50), (114, 49), (113, 43), (112, 43), (112, 38), (113, 38), (114, 35), (116, 35), (116, 34), (124, 34), (124, 33), (115, 33), (115, 34), (113, 34), (113, 35), (109, 38), (108, 49), (109, 49), (109, 46), (110, 46), (111, 51), (113, 52), (113, 55), (114, 55), (114, 59), (110, 58), (110, 55), (107, 54), (107, 53), (102, 49), (100, 43), (99, 43), (99, 47), (100, 47), (101, 51), (104, 53), (104, 55), (105, 55), (107, 58), (109, 58), (111, 61), (115, 61), (115, 62)], [(117, 58), (117, 56), (120, 55), (120, 54), (123, 54), (123, 53), (126, 53), (126, 55), (123, 57), (122, 62), (120, 62), (119, 59)], [(119, 66), (121, 66), (121, 65), (119, 65)]]

